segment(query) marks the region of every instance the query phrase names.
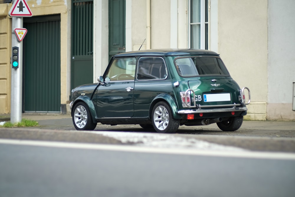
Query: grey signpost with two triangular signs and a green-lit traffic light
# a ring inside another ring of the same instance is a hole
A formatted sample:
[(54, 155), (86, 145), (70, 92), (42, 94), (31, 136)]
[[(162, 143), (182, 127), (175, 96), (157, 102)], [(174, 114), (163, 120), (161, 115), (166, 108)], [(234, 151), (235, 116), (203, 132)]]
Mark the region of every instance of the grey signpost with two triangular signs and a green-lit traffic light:
[(10, 122), (22, 121), (22, 40), (27, 33), (27, 29), (22, 28), (23, 17), (31, 17), (32, 12), (25, 0), (13, 0), (13, 5), (9, 11), (12, 17), (12, 58), (11, 58), (11, 112)]

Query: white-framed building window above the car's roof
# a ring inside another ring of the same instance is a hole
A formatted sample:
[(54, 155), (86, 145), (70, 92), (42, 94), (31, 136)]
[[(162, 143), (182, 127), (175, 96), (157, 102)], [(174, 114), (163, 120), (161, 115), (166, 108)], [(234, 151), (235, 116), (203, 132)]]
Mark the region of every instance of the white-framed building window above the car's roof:
[(209, 20), (208, 0), (190, 0), (190, 48), (208, 49)]

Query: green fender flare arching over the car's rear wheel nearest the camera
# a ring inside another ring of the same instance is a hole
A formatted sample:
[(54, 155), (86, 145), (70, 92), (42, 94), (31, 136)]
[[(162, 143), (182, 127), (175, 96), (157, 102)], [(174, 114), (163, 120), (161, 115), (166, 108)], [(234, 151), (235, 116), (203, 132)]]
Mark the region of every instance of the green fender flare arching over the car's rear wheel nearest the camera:
[(156, 105), (156, 103), (160, 101), (165, 101), (168, 103), (168, 105), (171, 107), (173, 118), (181, 119), (181, 116), (177, 113), (178, 107), (175, 100), (173, 99), (173, 97), (171, 97), (171, 95), (168, 95), (168, 94), (160, 94), (154, 98), (154, 100), (150, 104), (150, 114), (149, 114), (150, 118), (152, 117), (153, 107)]

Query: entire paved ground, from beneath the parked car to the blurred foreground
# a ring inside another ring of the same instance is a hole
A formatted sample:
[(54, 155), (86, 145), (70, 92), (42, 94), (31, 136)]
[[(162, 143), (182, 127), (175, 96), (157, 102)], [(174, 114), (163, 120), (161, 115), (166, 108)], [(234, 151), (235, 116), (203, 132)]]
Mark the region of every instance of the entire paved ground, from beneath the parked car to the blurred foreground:
[(70, 118), (0, 128), (0, 196), (294, 196), (294, 122), (236, 132), (136, 125), (76, 131)]

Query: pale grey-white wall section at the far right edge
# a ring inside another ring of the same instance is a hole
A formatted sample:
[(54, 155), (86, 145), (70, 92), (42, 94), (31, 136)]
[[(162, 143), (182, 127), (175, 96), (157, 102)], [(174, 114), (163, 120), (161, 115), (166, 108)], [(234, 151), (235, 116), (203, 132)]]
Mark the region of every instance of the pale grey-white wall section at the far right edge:
[(268, 105), (269, 120), (295, 120), (294, 0), (268, 1)]

